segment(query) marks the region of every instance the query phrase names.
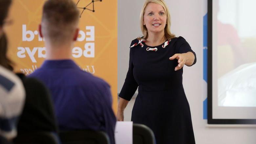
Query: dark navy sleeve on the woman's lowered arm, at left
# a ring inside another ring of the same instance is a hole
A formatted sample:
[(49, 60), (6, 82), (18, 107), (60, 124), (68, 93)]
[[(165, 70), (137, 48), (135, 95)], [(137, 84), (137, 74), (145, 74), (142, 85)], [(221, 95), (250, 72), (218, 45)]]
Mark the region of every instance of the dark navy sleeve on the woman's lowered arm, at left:
[[(131, 45), (133, 42), (131, 43)], [(123, 84), (122, 90), (119, 94), (119, 97), (126, 99), (128, 101), (131, 100), (132, 96), (134, 95), (135, 91), (138, 88), (138, 83), (134, 79), (133, 76), (133, 49), (130, 48), (130, 59), (129, 59), (129, 69), (126, 74), (125, 82)]]

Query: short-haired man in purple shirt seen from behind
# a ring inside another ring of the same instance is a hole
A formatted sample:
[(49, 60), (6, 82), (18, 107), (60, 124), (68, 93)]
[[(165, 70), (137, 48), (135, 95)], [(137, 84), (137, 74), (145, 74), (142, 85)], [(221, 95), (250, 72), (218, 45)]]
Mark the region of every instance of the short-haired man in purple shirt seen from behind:
[(110, 86), (82, 71), (72, 60), (78, 37), (79, 11), (72, 0), (47, 0), (39, 33), (45, 39), (46, 60), (29, 77), (50, 89), (59, 129), (105, 131), (115, 143), (116, 117)]

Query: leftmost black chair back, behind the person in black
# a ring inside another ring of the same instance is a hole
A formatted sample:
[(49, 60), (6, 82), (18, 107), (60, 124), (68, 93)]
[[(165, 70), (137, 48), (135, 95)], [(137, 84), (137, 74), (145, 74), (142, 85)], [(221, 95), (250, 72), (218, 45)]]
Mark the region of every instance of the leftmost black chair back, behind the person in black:
[(18, 132), (14, 144), (59, 144), (57, 134), (51, 132)]

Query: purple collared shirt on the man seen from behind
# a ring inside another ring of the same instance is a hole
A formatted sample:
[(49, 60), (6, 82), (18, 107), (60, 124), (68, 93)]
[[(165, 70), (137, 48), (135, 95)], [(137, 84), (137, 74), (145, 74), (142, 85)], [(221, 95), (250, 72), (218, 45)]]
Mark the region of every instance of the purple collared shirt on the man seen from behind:
[(60, 130), (105, 131), (115, 143), (116, 117), (104, 80), (82, 71), (73, 60), (46, 60), (29, 77), (50, 89)]

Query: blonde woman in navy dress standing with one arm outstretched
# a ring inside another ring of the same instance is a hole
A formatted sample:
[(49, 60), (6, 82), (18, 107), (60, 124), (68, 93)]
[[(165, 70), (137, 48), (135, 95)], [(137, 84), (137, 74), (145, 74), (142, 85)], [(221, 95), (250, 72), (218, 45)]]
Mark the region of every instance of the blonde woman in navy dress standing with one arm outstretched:
[(117, 120), (123, 121), (124, 109), (139, 87), (131, 120), (150, 127), (157, 144), (195, 144), (182, 68), (194, 65), (196, 54), (183, 37), (170, 32), (170, 13), (163, 0), (145, 1), (140, 27), (143, 37), (130, 45)]

